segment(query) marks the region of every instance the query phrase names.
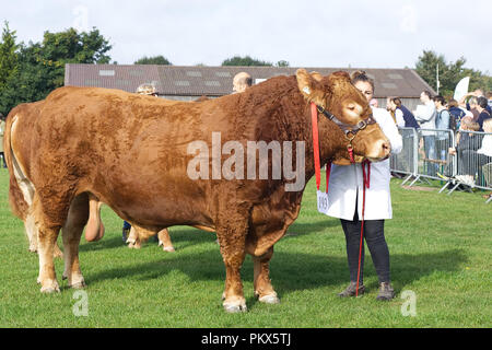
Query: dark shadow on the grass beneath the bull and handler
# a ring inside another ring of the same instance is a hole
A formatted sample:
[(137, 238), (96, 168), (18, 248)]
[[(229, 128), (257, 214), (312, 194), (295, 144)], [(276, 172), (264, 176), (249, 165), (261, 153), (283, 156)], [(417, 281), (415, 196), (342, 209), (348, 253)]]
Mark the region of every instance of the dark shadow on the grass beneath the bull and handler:
[[(207, 236), (206, 236), (207, 237)], [(210, 237), (207, 237), (209, 240)], [(206, 238), (200, 238), (206, 241)], [(142, 252), (143, 253), (143, 252)], [(453, 272), (468, 261), (462, 249), (438, 253), (391, 255), (391, 276), (396, 291), (406, 284), (418, 281), (434, 272)], [(83, 269), (83, 266), (82, 266)], [(124, 269), (108, 269), (85, 276), (89, 283), (102, 283), (105, 280), (136, 278), (140, 280), (159, 279), (174, 270), (187, 275), (190, 281), (224, 281), (225, 268), (219, 247), (207, 252), (190, 253), (179, 250), (165, 254), (163, 258), (143, 264), (134, 264)], [(327, 285), (344, 285), (348, 282), (348, 262), (345, 257), (332, 257), (314, 254), (276, 252), (270, 264), (272, 284), (280, 295), (298, 290), (311, 290)], [(376, 280), (376, 273), (366, 254), (365, 279)], [(253, 281), (253, 261), (248, 257), (242, 269), (243, 281)]]

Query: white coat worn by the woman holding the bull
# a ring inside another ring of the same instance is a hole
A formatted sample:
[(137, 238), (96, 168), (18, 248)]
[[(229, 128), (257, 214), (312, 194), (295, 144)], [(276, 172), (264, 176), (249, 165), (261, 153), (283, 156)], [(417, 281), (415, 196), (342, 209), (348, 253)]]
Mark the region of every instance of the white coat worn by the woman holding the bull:
[[(402, 139), (390, 114), (383, 108), (373, 108), (373, 117), (388, 138), (391, 144), (391, 153), (401, 152)], [(389, 159), (371, 163), (370, 188), (365, 191), (364, 220), (391, 219), (389, 179)], [(328, 187), (327, 214), (333, 218), (353, 220), (356, 201), (359, 220), (362, 220), (362, 165), (332, 164)]]

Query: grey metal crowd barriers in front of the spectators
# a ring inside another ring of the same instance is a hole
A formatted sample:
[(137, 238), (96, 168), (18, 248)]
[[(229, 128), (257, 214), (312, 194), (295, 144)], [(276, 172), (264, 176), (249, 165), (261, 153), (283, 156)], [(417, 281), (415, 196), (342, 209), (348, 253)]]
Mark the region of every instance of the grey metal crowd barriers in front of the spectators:
[(390, 167), (406, 177), (402, 185), (438, 179), (440, 192), (447, 189), (448, 195), (460, 186), (492, 190), (492, 156), (480, 153), (484, 137), (492, 133), (401, 127), (399, 131), (403, 148), (391, 154)]

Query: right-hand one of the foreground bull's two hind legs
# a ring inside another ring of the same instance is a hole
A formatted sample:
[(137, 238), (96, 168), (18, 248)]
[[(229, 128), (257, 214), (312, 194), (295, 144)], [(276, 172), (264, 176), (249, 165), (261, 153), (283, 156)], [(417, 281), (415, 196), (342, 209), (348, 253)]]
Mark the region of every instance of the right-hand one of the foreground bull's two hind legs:
[(62, 228), (65, 247), (63, 279), (71, 288), (84, 288), (85, 281), (80, 270), (79, 244), (89, 219), (89, 198), (86, 194), (75, 197), (70, 205), (67, 221)]

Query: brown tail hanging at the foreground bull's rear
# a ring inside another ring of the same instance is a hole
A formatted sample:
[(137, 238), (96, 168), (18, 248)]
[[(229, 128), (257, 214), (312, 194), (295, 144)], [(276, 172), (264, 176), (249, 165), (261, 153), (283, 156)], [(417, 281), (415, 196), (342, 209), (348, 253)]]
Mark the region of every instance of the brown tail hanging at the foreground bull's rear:
[(14, 168), (20, 170), (19, 163), (12, 150), (12, 125), (16, 119), (16, 108), (7, 117), (5, 130), (3, 133), (3, 154), (5, 163), (9, 168), (10, 184), (9, 184), (9, 202), (10, 208), (15, 217), (25, 221), (30, 206), (24, 199), (24, 195), (15, 178)]

